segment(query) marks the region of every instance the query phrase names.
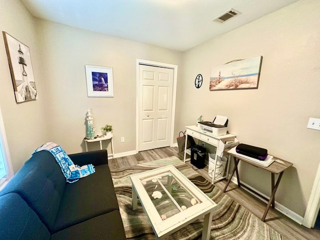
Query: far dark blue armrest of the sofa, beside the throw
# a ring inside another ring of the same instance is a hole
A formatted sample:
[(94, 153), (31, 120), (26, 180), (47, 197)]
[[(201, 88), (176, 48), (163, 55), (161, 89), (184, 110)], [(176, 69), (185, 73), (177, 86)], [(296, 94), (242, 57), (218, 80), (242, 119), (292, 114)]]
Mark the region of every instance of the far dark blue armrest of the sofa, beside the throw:
[(80, 152), (68, 155), (74, 164), (83, 166), (86, 164), (100, 165), (108, 164), (107, 150), (96, 150)]

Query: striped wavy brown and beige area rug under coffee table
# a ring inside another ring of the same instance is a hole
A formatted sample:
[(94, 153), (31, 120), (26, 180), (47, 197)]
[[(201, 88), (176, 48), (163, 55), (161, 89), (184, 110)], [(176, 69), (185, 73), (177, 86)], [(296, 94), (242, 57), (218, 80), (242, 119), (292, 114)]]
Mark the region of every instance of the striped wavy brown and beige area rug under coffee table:
[[(175, 156), (111, 171), (127, 239), (155, 239), (150, 222), (139, 201), (137, 209), (132, 210), (132, 188), (129, 175), (169, 164), (174, 165), (217, 203), (212, 217), (210, 239), (285, 239)], [(165, 239), (201, 239), (202, 227), (203, 217), (186, 225)]]

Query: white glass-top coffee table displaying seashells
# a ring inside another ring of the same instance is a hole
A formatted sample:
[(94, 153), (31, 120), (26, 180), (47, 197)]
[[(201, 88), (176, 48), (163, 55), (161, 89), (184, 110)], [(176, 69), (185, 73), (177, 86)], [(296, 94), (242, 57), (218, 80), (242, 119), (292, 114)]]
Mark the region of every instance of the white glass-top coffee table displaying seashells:
[(158, 239), (201, 216), (204, 216), (202, 239), (209, 239), (216, 203), (173, 165), (133, 174), (130, 179), (132, 208), (137, 208), (139, 198)]

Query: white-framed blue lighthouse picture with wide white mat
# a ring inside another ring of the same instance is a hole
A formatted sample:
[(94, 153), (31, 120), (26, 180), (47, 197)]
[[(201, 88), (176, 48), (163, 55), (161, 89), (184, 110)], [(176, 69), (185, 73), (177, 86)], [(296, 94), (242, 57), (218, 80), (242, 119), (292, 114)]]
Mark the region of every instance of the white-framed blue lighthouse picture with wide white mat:
[(113, 97), (112, 67), (85, 65), (88, 96)]

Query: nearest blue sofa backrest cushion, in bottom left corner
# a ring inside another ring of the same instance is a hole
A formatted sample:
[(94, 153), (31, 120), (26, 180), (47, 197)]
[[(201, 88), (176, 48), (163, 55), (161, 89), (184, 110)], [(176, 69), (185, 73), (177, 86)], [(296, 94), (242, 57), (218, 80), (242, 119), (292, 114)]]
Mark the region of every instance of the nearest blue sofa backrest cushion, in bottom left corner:
[(17, 193), (0, 196), (0, 216), (1, 239), (50, 239), (48, 229)]

